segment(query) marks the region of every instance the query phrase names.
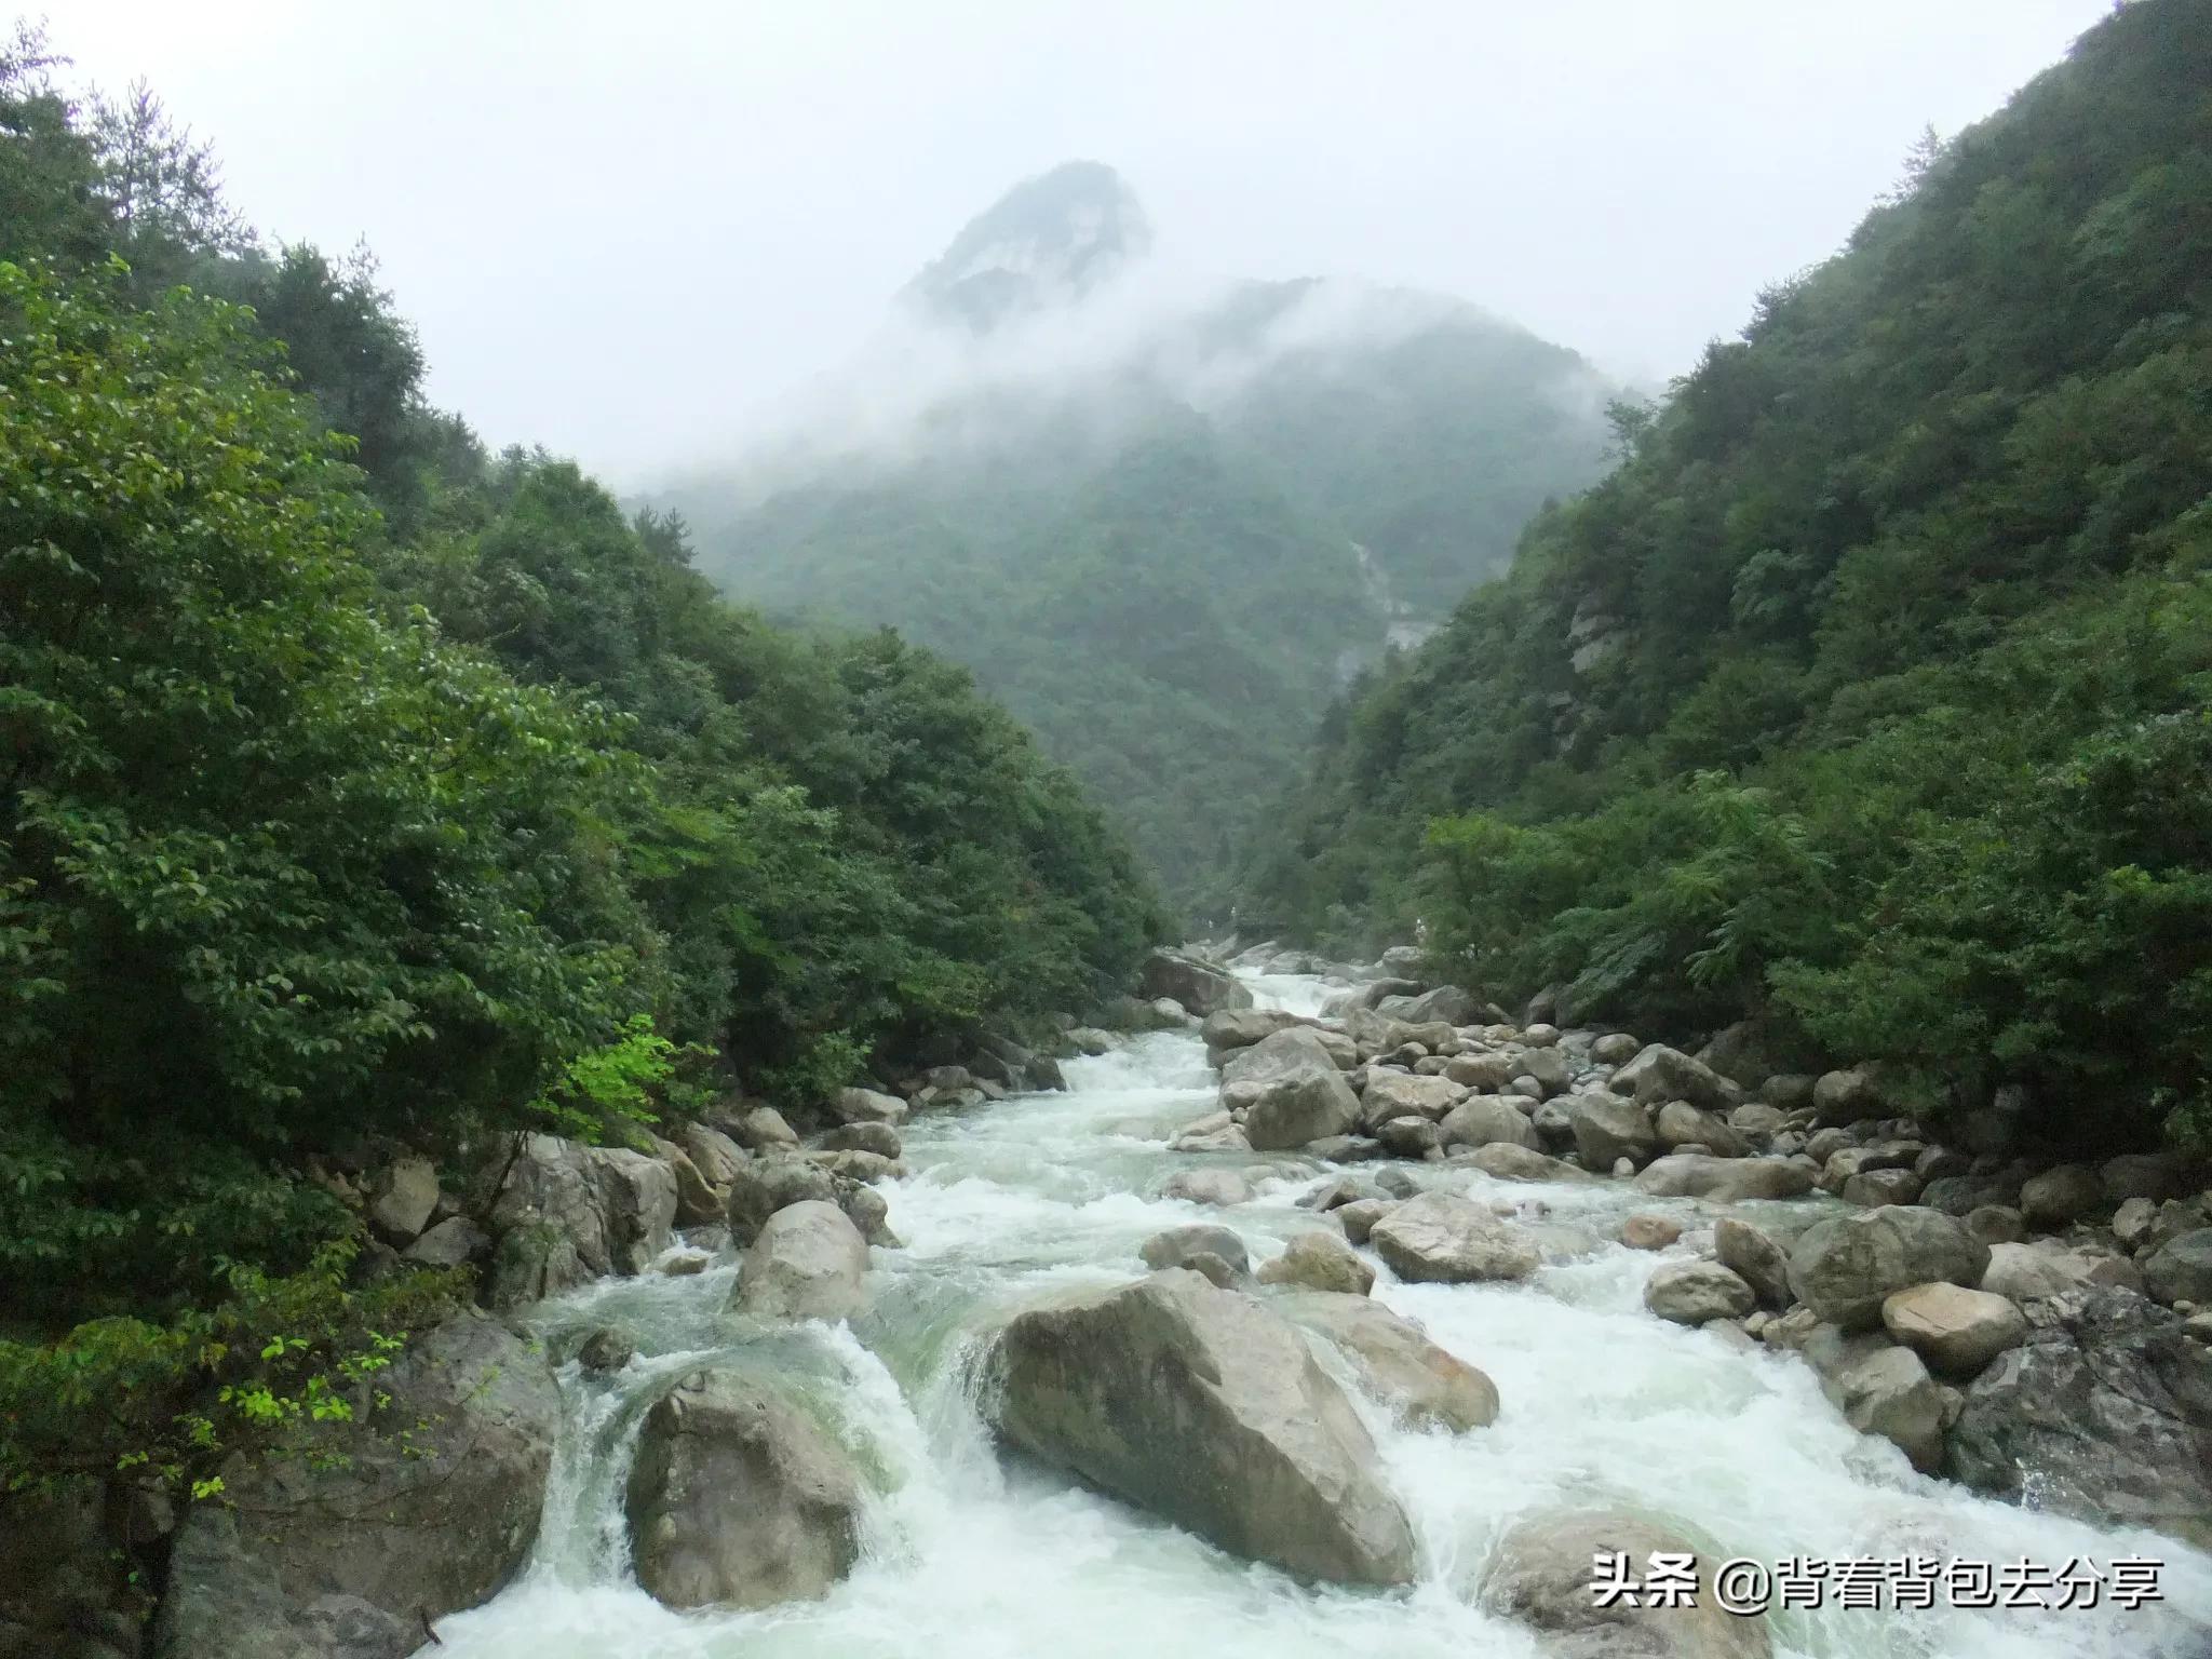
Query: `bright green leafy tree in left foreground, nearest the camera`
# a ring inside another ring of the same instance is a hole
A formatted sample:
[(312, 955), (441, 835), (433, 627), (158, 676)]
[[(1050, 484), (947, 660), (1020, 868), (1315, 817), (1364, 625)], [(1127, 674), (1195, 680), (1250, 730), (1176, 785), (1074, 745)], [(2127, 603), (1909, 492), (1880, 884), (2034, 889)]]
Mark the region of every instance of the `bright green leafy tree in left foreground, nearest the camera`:
[(0, 1261), (13, 1296), (104, 1239), (161, 1294), (195, 1192), (299, 1241), (268, 1166), (465, 1135), (613, 1031), (653, 942), (602, 830), (635, 768), (378, 619), (349, 473), (234, 312), (13, 265), (0, 310)]

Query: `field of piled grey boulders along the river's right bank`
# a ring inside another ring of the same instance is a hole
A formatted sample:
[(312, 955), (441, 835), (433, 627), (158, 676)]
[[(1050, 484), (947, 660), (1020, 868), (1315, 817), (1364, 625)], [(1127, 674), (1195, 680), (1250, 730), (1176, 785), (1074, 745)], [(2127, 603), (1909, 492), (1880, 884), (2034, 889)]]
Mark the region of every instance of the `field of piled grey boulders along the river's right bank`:
[[(1287, 960), (1270, 945), (1234, 967), (1296, 971)], [(1175, 1144), (1345, 1168), (1303, 1201), (1409, 1283), (1513, 1283), (1595, 1243), (1526, 1203), (1391, 1190), (1360, 1166), (1628, 1181), (1677, 1206), (1619, 1232), (1661, 1256), (1655, 1318), (1803, 1356), (1845, 1420), (1918, 1469), (2212, 1537), (2201, 1164), (2037, 1157), (2017, 1086), (1922, 1119), (1874, 1062), (1781, 1071), (1772, 1033), (1752, 1026), (1690, 1051), (1515, 1022), (1420, 971), (1418, 951), (1347, 971), (1321, 1018), (1210, 1015), (1221, 1099)], [(1334, 1261), (1318, 1245), (1301, 1256), (1312, 1267), (1272, 1272), (1318, 1283)]]

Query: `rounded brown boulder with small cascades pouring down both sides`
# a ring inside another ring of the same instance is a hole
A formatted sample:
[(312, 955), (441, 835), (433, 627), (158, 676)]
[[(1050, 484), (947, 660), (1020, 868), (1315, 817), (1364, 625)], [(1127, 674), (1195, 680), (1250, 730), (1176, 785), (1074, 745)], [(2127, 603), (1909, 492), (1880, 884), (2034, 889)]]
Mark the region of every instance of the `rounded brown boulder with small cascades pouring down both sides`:
[(626, 1491), (637, 1582), (670, 1608), (816, 1599), (860, 1555), (860, 1482), (754, 1378), (697, 1371), (655, 1400)]

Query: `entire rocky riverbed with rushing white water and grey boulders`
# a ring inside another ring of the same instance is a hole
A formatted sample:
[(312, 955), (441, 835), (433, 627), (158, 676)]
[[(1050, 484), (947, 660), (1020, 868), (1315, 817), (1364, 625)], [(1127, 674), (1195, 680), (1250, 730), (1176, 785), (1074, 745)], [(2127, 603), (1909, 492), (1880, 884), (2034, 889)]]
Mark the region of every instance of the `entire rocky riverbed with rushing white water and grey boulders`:
[[(849, 1091), (812, 1148), (511, 1148), (456, 1241), (504, 1323), (398, 1378), (420, 1455), (195, 1506), (155, 1650), (2212, 1652), (2185, 1170), (1301, 967), (1166, 962), (1161, 1029)], [(374, 1181), (396, 1250), (449, 1225)], [(1608, 1551), (1697, 1553), (1703, 1606), (1593, 1608)], [(1728, 1557), (2163, 1599), (1732, 1617)]]

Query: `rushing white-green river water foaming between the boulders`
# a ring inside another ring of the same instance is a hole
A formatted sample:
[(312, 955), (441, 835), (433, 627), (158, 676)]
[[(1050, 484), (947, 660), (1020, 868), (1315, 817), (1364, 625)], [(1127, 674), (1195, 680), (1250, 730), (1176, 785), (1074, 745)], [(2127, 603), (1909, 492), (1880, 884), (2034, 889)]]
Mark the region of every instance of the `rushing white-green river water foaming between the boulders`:
[[(1263, 998), (1318, 1006), (1314, 980), (1254, 980)], [(1480, 1365), (1504, 1400), (1489, 1429), (1411, 1433), (1367, 1411), (1422, 1544), (1402, 1593), (1310, 1588), (1006, 1464), (971, 1396), (984, 1332), (1024, 1298), (1141, 1272), (1137, 1248), (1186, 1221), (1223, 1221), (1265, 1259), (1314, 1219), (1318, 1179), (1298, 1157), (1265, 1166), (1252, 1203), (1201, 1210), (1155, 1197), (1192, 1166), (1166, 1137), (1212, 1106), (1197, 1040), (1144, 1037), (1068, 1064), (1071, 1093), (938, 1115), (907, 1130), (911, 1175), (887, 1188), (905, 1250), (878, 1250), (874, 1305), (852, 1327), (763, 1325), (726, 1312), (734, 1263), (692, 1279), (606, 1281), (540, 1310), (566, 1354), (617, 1327), (639, 1358), (613, 1378), (564, 1367), (568, 1425), (538, 1557), (495, 1601), (440, 1624), (438, 1659), (1394, 1659), (1535, 1655), (1517, 1624), (1473, 1604), (1502, 1531), (1548, 1504), (1630, 1504), (1723, 1555), (1774, 1564), (1927, 1553), (1938, 1559), (2166, 1562), (2163, 1608), (1787, 1610), (1767, 1617), (1785, 1657), (2135, 1659), (2212, 1652), (2212, 1557), (2154, 1533), (2108, 1533), (1978, 1500), (1916, 1475), (1854, 1433), (1809, 1367), (1743, 1352), (1644, 1312), (1666, 1259), (1608, 1241), (1630, 1210), (1699, 1206), (1626, 1188), (1533, 1188), (1422, 1166), (1431, 1186), (1511, 1201), (1562, 1261), (1524, 1285), (1398, 1285), (1376, 1296)], [(1710, 1217), (1705, 1217), (1710, 1221)], [(1577, 1250), (1575, 1259), (1564, 1259)], [(1679, 1250), (1674, 1252), (1679, 1254)], [(803, 1391), (874, 1484), (860, 1568), (827, 1599), (765, 1613), (677, 1615), (628, 1577), (622, 1482), (655, 1394), (699, 1365), (774, 1374)]]

